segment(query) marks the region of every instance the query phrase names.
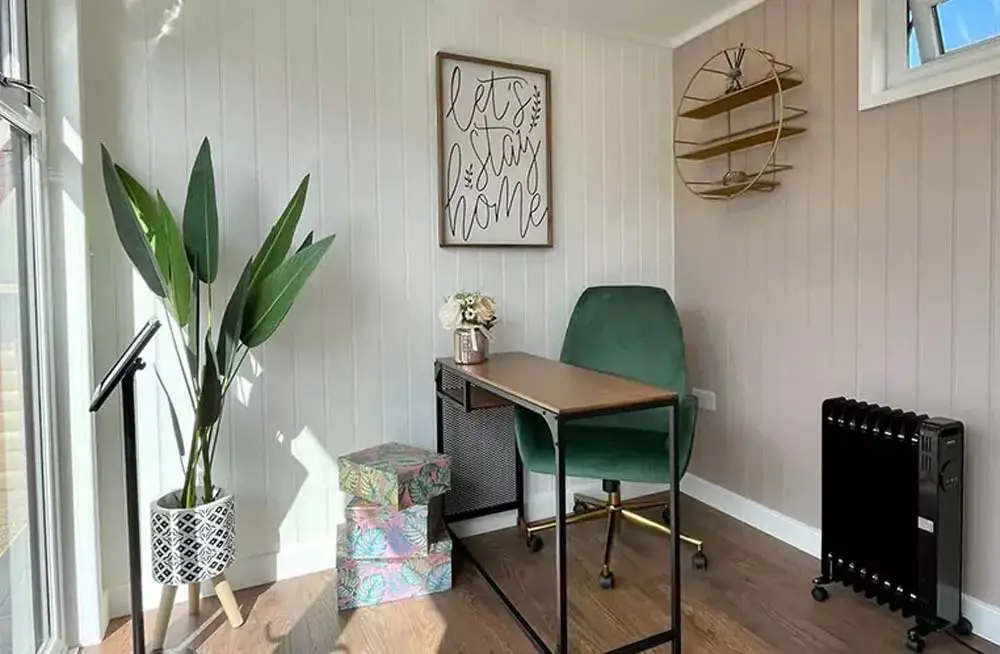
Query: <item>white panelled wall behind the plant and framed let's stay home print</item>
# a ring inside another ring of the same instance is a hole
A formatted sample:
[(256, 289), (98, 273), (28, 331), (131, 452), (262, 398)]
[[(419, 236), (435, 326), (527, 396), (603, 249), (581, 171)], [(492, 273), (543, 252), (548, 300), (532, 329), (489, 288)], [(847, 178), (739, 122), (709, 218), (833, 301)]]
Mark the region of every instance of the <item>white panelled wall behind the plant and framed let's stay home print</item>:
[[(239, 586), (333, 566), (338, 455), (391, 440), (433, 445), (432, 359), (450, 348), (436, 323), (444, 295), (494, 294), (502, 317), (495, 349), (555, 355), (587, 285), (673, 288), (670, 51), (475, 4), (87, 0), (88, 162), (105, 142), (180, 214), (190, 162), (211, 138), (223, 216), (217, 298), (228, 297), (303, 174), (312, 174), (312, 188), (302, 233), (337, 234), (227, 407), (217, 479), (236, 494)], [(553, 249), (437, 246), (439, 50), (552, 70)], [(155, 304), (134, 284), (99, 172), (87, 170), (99, 373)], [(172, 377), (165, 333), (155, 349), (150, 360)], [(139, 384), (146, 506), (181, 473), (155, 376), (144, 373)], [(117, 412), (97, 424), (103, 579), (114, 615), (127, 598)], [(544, 490), (538, 481), (532, 489)], [(156, 589), (147, 585), (152, 605)]]

